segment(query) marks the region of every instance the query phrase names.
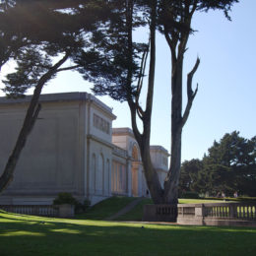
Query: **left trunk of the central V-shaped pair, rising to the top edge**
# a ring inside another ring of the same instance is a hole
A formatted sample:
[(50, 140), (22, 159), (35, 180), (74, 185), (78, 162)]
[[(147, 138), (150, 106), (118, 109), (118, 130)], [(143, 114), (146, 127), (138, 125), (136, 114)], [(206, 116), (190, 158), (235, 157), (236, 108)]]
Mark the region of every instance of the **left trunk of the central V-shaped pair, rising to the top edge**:
[[(132, 16), (127, 16), (127, 19), (131, 19)], [(155, 69), (156, 69), (156, 18), (157, 18), (157, 1), (151, 1), (151, 24), (150, 24), (150, 67), (149, 67), (149, 80), (148, 80), (148, 92), (146, 99), (146, 109), (141, 111), (139, 100), (133, 100), (131, 97), (128, 98), (128, 104), (131, 111), (132, 128), (134, 136), (139, 144), (141, 158), (145, 169), (145, 178), (147, 181), (148, 188), (151, 192), (152, 199), (155, 204), (162, 203), (162, 189), (160, 186), (160, 179), (157, 170), (154, 168), (151, 160), (151, 149), (150, 149), (150, 137), (151, 137), (151, 121), (152, 121), (152, 105), (154, 96), (154, 85), (155, 85)], [(130, 49), (130, 63), (132, 63), (132, 23), (131, 20), (128, 22), (127, 28), (129, 38), (129, 49)], [(132, 66), (132, 65), (131, 65)], [(130, 76), (131, 77), (131, 76)], [(129, 77), (128, 77), (129, 81)], [(129, 85), (130, 86), (130, 85)], [(140, 92), (139, 92), (140, 94)], [(140, 112), (140, 118), (143, 122), (143, 133), (139, 132), (137, 126), (137, 113)]]

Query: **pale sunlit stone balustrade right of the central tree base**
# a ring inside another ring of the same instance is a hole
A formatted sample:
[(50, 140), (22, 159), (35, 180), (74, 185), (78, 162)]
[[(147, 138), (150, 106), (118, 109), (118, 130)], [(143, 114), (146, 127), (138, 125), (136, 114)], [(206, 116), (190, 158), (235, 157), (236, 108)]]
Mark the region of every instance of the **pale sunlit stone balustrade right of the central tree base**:
[(178, 204), (177, 224), (256, 226), (256, 203)]

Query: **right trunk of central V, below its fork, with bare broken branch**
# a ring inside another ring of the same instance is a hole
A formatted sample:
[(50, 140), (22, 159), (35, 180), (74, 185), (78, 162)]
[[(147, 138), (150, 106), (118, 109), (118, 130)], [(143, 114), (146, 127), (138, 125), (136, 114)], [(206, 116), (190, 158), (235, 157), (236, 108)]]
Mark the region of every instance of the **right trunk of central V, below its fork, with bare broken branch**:
[(183, 74), (183, 56), (177, 60), (172, 59), (171, 76), (171, 157), (167, 177), (164, 181), (163, 202), (166, 204), (178, 203), (178, 184), (181, 166), (181, 137), (182, 128), (185, 125), (189, 112), (197, 94), (192, 90), (192, 80), (200, 64), (199, 58), (187, 75), (187, 105), (182, 115), (182, 74)]

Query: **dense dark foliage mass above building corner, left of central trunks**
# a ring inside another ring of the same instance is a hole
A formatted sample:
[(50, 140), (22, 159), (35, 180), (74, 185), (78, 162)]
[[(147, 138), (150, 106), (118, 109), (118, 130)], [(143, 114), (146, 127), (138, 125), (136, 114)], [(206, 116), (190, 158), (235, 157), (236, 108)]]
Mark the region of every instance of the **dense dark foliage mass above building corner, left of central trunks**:
[[(75, 62), (82, 66), (84, 79), (93, 82), (97, 96), (116, 100), (134, 98), (141, 74), (141, 60), (148, 45), (130, 41), (129, 32), (146, 25), (142, 5), (134, 1), (108, 1), (109, 22), (103, 30), (93, 32), (91, 51), (78, 55)], [(96, 47), (95, 47), (96, 45)], [(93, 60), (93, 62), (92, 62)]]

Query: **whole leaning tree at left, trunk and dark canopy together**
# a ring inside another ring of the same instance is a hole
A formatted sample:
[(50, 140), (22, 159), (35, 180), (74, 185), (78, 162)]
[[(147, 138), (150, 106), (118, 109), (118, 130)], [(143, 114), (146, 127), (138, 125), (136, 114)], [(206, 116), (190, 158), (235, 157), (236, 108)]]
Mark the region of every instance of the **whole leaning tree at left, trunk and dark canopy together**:
[[(78, 69), (79, 65), (73, 61), (75, 56), (91, 51), (91, 34), (105, 22), (105, 9), (100, 4), (101, 1), (25, 0), (5, 1), (1, 5), (0, 44), (4, 50), (0, 52), (0, 64), (13, 59), (17, 65), (15, 72), (3, 81), (4, 92), (18, 97), (30, 88), (34, 91), (17, 143), (0, 177), (0, 192), (13, 179), (15, 166), (41, 108), (39, 96), (43, 86), (58, 72)], [(63, 66), (67, 60), (73, 64)]]

